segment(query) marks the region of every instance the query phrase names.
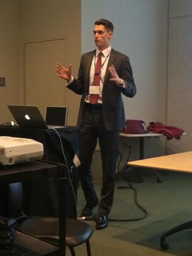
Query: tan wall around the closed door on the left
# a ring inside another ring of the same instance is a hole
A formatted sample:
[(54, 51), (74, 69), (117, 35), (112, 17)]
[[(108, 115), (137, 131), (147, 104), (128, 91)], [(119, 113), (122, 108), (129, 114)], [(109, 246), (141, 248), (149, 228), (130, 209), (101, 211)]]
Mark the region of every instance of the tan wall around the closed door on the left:
[[(81, 47), (80, 4), (79, 0), (0, 1), (0, 26), (2, 35), (4, 35), (1, 36), (0, 41), (0, 73), (7, 79), (6, 87), (0, 88), (2, 92), (0, 94), (1, 122), (12, 118), (6, 107), (8, 103), (24, 103), (25, 41), (65, 37), (67, 41), (66, 63), (73, 63), (73, 73), (77, 75)], [(60, 83), (59, 78), (58, 83)], [(50, 88), (53, 93), (57, 89), (57, 84), (54, 86)], [(63, 86), (65, 86), (64, 81)], [(75, 125), (79, 96), (69, 91), (67, 99), (66, 105), (69, 106), (70, 112), (68, 123)]]

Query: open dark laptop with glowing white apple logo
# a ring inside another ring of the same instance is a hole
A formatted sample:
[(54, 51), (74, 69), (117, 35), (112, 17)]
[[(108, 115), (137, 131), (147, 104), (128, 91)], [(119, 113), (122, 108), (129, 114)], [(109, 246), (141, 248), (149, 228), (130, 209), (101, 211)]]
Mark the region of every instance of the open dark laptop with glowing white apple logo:
[(37, 106), (8, 105), (8, 108), (19, 127), (48, 129), (48, 125)]

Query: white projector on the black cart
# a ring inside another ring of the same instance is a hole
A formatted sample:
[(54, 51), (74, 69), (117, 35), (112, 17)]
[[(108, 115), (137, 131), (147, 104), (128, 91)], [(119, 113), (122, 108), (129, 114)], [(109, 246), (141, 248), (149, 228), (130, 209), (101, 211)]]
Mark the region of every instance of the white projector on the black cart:
[(40, 159), (44, 155), (42, 143), (32, 139), (0, 136), (0, 164), (10, 165)]

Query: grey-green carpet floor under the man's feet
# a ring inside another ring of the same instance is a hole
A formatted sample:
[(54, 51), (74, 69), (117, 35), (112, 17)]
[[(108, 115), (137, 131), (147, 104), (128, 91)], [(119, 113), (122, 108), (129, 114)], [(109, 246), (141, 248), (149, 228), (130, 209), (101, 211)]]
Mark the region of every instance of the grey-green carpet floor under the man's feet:
[[(139, 221), (110, 221), (103, 230), (95, 229), (90, 239), (92, 256), (127, 255), (192, 255), (192, 229), (178, 232), (166, 239), (169, 248), (160, 247), (160, 236), (174, 226), (192, 220), (192, 175), (160, 172), (163, 182), (158, 183), (156, 174), (151, 170), (139, 170), (142, 183), (131, 183), (137, 189), (138, 203), (146, 209), (147, 218)], [(135, 173), (127, 173), (130, 179)], [(134, 190), (126, 188), (128, 182), (121, 177), (116, 180), (114, 205), (109, 218), (135, 219), (144, 216), (134, 201)], [(124, 186), (124, 189), (118, 187)], [(99, 197), (101, 180), (94, 181)], [(81, 187), (78, 187), (78, 214), (85, 204)], [(97, 207), (93, 210), (97, 216)], [(86, 245), (75, 248), (76, 255), (86, 256)], [(70, 255), (69, 250), (66, 252)]]

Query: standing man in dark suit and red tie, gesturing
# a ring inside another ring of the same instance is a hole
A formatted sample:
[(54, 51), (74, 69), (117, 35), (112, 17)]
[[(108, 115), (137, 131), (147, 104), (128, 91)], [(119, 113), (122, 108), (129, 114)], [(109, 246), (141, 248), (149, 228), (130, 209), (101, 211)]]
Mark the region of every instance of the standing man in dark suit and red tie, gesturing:
[(98, 204), (90, 170), (92, 156), (99, 140), (102, 159), (102, 189), (99, 202), (99, 218), (96, 228), (108, 226), (112, 208), (119, 131), (125, 127), (124, 106), (121, 93), (127, 97), (136, 94), (129, 58), (111, 48), (113, 24), (98, 19), (94, 26), (96, 50), (82, 55), (78, 78), (68, 68), (57, 64), (57, 76), (67, 80), (67, 87), (82, 95), (77, 126), (80, 128), (79, 159), (81, 186), (87, 204), (81, 216), (91, 216)]

